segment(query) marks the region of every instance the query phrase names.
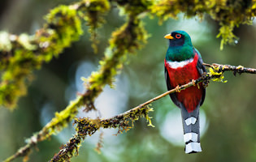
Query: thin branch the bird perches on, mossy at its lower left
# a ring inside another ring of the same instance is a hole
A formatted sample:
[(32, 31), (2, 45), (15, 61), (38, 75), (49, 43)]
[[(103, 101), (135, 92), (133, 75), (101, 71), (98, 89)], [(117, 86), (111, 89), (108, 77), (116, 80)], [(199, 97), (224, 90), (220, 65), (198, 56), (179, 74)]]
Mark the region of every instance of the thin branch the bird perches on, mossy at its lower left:
[[(107, 118), (107, 119), (90, 119), (88, 117), (84, 118), (76, 118), (76, 134), (66, 143), (63, 148), (54, 155), (54, 157), (50, 161), (69, 161), (72, 156), (77, 156), (81, 143), (85, 140), (86, 136), (93, 135), (100, 128), (118, 128), (118, 133), (123, 133), (124, 131), (128, 131), (134, 126), (134, 122), (139, 120), (141, 117), (145, 117), (147, 122), (149, 122), (148, 126), (153, 126), (150, 120), (149, 112), (153, 111), (150, 108), (150, 104), (155, 100), (159, 100), (164, 96), (167, 96), (171, 93), (180, 92), (185, 90), (188, 87), (197, 86), (198, 83), (208, 82), (210, 80), (222, 79), (224, 71), (233, 71), (234, 74), (239, 73), (248, 73), (248, 74), (256, 74), (256, 69), (253, 68), (245, 68), (243, 66), (230, 66), (230, 65), (219, 65), (219, 64), (206, 64), (205, 66), (209, 66), (212, 68), (209, 72), (202, 77), (193, 80), (189, 83), (181, 85), (179, 87), (173, 88), (170, 91), (167, 91), (159, 96), (154, 97), (151, 100), (146, 101), (143, 104), (138, 105), (137, 107), (128, 110), (125, 113), (121, 113), (115, 117)], [(217, 80), (218, 81), (218, 80)], [(153, 126), (154, 127), (154, 126)]]

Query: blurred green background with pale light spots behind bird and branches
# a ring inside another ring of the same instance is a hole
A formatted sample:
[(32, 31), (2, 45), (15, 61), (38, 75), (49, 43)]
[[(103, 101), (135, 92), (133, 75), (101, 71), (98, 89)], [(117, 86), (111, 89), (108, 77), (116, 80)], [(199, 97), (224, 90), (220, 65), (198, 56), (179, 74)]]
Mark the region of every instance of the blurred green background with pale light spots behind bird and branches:
[[(0, 5), (0, 31), (15, 34), (33, 34), (42, 27), (51, 8), (71, 1), (55, 0), (3, 0)], [(98, 30), (98, 54), (93, 53), (89, 33), (85, 34), (71, 48), (34, 71), (33, 83), (28, 95), (21, 98), (18, 109), (10, 112), (0, 109), (0, 160), (11, 156), (24, 146), (24, 140), (33, 132), (41, 130), (54, 112), (61, 111), (68, 102), (75, 99), (77, 92), (85, 87), (80, 77), (88, 77), (98, 70), (98, 61), (108, 45), (107, 39), (116, 28), (124, 23), (116, 7), (106, 15), (106, 23)], [(200, 51), (204, 62), (242, 65), (256, 68), (256, 21), (253, 25), (241, 25), (235, 29), (240, 37), (236, 45), (226, 45), (219, 50), (218, 23), (205, 16), (179, 20), (169, 19), (163, 25), (157, 18), (144, 19), (145, 28), (150, 33), (148, 44), (128, 55), (121, 75), (116, 77), (115, 89), (106, 86), (96, 100), (96, 107), (102, 117), (112, 117), (138, 104), (166, 92), (163, 75), (163, 59), (168, 41), (163, 36), (174, 30), (189, 32), (193, 45)], [(79, 156), (80, 161), (256, 161), (256, 75), (232, 75), (225, 73), (228, 83), (210, 82), (206, 89), (206, 100), (201, 109), (202, 152), (184, 154), (183, 132), (180, 109), (168, 96), (155, 101), (152, 106), (154, 128), (147, 126), (145, 119), (135, 123), (127, 133), (115, 136), (117, 130), (100, 130), (85, 139)], [(80, 111), (78, 117), (97, 117), (97, 112)], [(103, 132), (102, 153), (94, 151), (100, 132)], [(29, 156), (29, 161), (47, 161), (59, 151), (59, 147), (75, 134), (72, 123), (60, 134), (39, 143)], [(18, 159), (15, 161), (21, 161)]]

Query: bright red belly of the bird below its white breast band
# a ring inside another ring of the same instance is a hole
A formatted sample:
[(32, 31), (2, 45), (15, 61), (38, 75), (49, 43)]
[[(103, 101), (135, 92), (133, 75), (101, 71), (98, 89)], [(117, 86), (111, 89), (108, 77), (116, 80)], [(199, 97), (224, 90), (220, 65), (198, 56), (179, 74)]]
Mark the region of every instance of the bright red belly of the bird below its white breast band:
[[(195, 80), (201, 76), (197, 70), (197, 60), (198, 56), (196, 54), (193, 62), (190, 62), (189, 64), (183, 67), (178, 67), (176, 69), (171, 68), (171, 66), (169, 66), (165, 61), (165, 66), (170, 77), (171, 87), (189, 83), (192, 79)], [(180, 93), (176, 93), (177, 100), (184, 104), (184, 107), (188, 110), (189, 113), (196, 109), (197, 105), (201, 102), (203, 95), (202, 83), (199, 83), (199, 87), (199, 89), (197, 86), (188, 87)]]

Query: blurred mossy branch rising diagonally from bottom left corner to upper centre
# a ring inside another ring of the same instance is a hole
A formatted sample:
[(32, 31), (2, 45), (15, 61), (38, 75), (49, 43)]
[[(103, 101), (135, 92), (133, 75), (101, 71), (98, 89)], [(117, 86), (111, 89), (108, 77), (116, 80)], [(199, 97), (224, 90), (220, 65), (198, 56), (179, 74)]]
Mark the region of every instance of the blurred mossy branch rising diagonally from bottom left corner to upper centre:
[[(74, 7), (79, 8), (78, 6)], [(6, 161), (14, 160), (19, 156), (28, 156), (28, 152), (38, 142), (48, 139), (52, 134), (67, 126), (67, 123), (72, 121), (81, 106), (86, 106), (86, 111), (95, 109), (93, 101), (106, 84), (111, 85), (113, 78), (123, 66), (124, 56), (139, 49), (141, 44), (145, 43), (146, 38), (147, 34), (141, 20), (137, 19), (137, 15), (129, 15), (128, 23), (124, 23), (121, 28), (112, 33), (110, 47), (106, 49), (105, 58), (100, 62), (100, 69), (93, 72), (89, 79), (86, 79), (86, 92), (77, 96), (76, 100), (71, 101), (66, 109), (60, 113), (55, 113), (55, 117), (41, 131), (27, 139), (28, 144), (25, 147), (21, 147), (14, 156)]]

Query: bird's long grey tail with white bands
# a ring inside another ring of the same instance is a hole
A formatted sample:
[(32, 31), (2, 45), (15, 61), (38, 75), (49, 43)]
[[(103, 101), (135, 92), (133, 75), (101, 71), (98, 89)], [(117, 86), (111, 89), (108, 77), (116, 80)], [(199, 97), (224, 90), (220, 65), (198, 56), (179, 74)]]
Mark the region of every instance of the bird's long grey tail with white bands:
[(184, 130), (185, 153), (197, 153), (202, 151), (199, 132), (199, 105), (193, 112), (181, 108), (182, 124)]

